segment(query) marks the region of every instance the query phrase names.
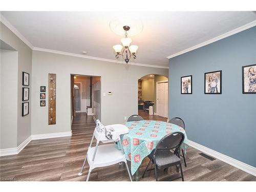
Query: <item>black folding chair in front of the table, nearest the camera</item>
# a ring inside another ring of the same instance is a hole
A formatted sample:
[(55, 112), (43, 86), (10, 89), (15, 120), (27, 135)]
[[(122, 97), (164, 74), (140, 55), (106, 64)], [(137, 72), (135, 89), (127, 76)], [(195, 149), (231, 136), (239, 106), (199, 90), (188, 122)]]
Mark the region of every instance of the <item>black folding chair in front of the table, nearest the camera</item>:
[[(179, 178), (182, 178), (182, 181), (184, 181), (181, 161), (179, 158), (180, 146), (184, 141), (184, 138), (185, 136), (181, 132), (174, 132), (164, 136), (157, 144), (157, 147), (155, 148), (155, 150), (153, 150), (151, 154), (147, 156), (148, 158), (150, 158), (150, 162), (148, 162), (142, 178), (144, 178), (147, 168), (150, 166), (151, 162), (153, 162), (155, 165), (156, 181), (158, 181), (157, 169), (167, 170), (168, 167), (175, 166), (175, 165), (180, 166), (181, 176), (175, 179), (172, 179), (170, 181), (173, 181)], [(170, 151), (172, 149), (175, 149), (174, 153)]]

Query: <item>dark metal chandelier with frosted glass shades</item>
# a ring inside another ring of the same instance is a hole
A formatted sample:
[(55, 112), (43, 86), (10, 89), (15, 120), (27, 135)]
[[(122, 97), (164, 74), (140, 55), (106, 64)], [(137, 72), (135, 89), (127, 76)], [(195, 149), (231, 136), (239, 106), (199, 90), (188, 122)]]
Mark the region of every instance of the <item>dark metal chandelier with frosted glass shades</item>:
[(121, 42), (123, 45), (115, 45), (113, 46), (115, 52), (116, 52), (116, 58), (118, 59), (119, 56), (122, 56), (124, 61), (126, 63), (129, 62), (131, 57), (136, 59), (136, 52), (138, 50), (138, 46), (130, 46), (132, 39), (127, 37), (127, 31), (129, 31), (130, 27), (129, 26), (123, 26), (123, 29), (125, 31), (125, 37), (121, 39)]

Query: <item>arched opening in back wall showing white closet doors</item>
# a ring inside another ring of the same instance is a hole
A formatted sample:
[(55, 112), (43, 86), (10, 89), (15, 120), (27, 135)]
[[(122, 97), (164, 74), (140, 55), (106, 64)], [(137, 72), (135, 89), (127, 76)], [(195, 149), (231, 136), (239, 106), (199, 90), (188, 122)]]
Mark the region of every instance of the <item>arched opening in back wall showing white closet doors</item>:
[(147, 74), (138, 79), (138, 114), (146, 119), (168, 117), (167, 77)]

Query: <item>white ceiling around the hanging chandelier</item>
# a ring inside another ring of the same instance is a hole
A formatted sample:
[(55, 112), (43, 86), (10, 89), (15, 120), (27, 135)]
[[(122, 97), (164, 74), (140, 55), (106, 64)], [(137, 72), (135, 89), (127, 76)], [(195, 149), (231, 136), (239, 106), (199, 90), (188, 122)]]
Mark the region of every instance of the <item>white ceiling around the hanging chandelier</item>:
[[(1, 12), (34, 47), (115, 59), (120, 36), (109, 23), (120, 16), (142, 21), (132, 37), (138, 45), (132, 62), (168, 66), (169, 55), (256, 20), (255, 12)], [(121, 59), (120, 59), (121, 60)]]

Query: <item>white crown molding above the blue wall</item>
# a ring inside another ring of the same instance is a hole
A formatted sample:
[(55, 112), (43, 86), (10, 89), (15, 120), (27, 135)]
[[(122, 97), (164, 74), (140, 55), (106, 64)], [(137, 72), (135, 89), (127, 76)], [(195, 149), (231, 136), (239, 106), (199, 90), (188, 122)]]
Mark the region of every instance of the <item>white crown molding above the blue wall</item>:
[(224, 34), (222, 34), (222, 35), (219, 35), (219, 36), (217, 36), (217, 37), (214, 37), (214, 38), (212, 38), (212, 39), (209, 39), (209, 40), (207, 40), (207, 41), (204, 41), (204, 42), (202, 42), (201, 44), (198, 44), (198, 45), (196, 45), (196, 46), (190, 47), (190, 48), (188, 48), (188, 49), (185, 49), (185, 50), (180, 51), (180, 52), (178, 52), (178, 53), (175, 53), (175, 54), (173, 54), (173, 55), (169, 55), (169, 56), (167, 56), (167, 58), (170, 59), (170, 58), (176, 57), (176, 56), (178, 56), (178, 55), (182, 55), (182, 54), (184, 54), (184, 53), (187, 53), (187, 52), (189, 52), (189, 51), (193, 51), (193, 50), (198, 49), (198, 48), (200, 48), (200, 47), (209, 45), (209, 44), (211, 44), (212, 42), (216, 42), (216, 41), (218, 41), (218, 40), (221, 40), (221, 39), (223, 39), (223, 38), (226, 38), (226, 37), (231, 36), (231, 35), (233, 35), (233, 34), (239, 33), (239, 32), (241, 32), (241, 31), (244, 31), (244, 30), (249, 29), (249, 28), (254, 27), (254, 26), (256, 26), (256, 20), (253, 20), (253, 22), (248, 23), (248, 24), (246, 24), (246, 25), (244, 25), (244, 26), (241, 26), (241, 27), (239, 27), (239, 28), (237, 28), (237, 29), (231, 30), (231, 31), (229, 31), (229, 32), (227, 32), (227, 33), (224, 33)]

